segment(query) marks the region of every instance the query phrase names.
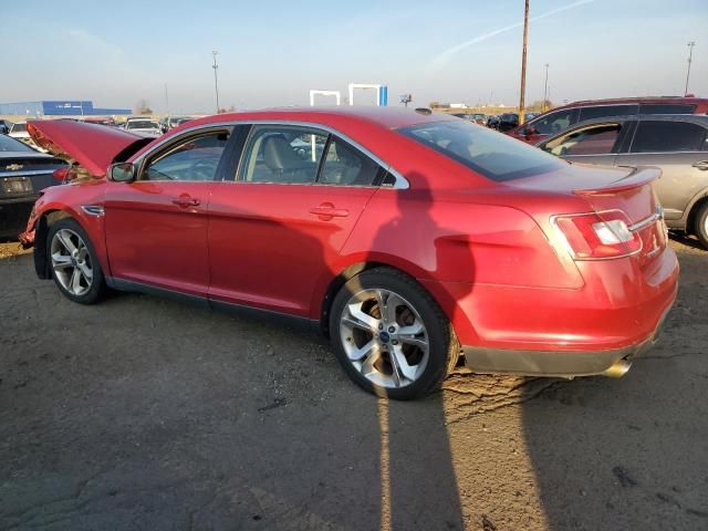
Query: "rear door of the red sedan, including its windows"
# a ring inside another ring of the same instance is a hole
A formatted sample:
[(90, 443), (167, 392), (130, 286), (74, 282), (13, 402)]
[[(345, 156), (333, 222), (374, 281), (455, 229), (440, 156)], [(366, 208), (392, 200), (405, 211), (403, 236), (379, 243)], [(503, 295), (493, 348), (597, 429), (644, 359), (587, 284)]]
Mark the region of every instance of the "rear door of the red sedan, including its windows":
[(209, 296), (311, 316), (385, 170), (317, 127), (253, 125), (209, 207)]

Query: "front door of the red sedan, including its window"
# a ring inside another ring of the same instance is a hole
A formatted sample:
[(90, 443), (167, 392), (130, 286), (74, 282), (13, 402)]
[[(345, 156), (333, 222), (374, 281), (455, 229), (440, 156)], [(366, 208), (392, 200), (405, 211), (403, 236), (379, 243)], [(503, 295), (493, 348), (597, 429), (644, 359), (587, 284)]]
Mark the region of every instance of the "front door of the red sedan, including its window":
[(207, 207), (229, 139), (223, 126), (186, 133), (140, 158), (132, 183), (108, 183), (105, 235), (114, 278), (206, 295)]

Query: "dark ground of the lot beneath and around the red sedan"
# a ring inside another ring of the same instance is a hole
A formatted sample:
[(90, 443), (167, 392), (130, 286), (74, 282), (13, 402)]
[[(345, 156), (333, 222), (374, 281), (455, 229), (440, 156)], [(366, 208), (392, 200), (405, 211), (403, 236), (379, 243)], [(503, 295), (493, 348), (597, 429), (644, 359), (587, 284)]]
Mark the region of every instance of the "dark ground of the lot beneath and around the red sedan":
[(417, 403), (314, 336), (64, 300), (0, 246), (0, 529), (708, 529), (708, 253), (626, 377), (455, 374)]

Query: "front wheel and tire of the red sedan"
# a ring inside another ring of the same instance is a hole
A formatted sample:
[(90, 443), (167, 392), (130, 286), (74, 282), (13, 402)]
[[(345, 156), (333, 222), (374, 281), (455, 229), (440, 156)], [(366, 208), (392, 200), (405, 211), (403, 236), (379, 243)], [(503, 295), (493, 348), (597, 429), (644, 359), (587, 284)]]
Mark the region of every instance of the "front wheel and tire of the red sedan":
[(98, 302), (105, 278), (86, 231), (72, 218), (52, 223), (46, 235), (46, 259), (59, 291), (80, 304)]

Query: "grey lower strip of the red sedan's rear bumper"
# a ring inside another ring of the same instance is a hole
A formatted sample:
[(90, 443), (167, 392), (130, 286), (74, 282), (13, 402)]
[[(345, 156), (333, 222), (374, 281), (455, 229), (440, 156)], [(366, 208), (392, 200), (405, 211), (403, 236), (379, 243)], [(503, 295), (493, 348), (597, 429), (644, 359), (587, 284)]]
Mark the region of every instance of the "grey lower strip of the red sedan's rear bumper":
[[(523, 376), (621, 376), (632, 361), (657, 342), (670, 308), (644, 341), (623, 348), (606, 351), (516, 351), (462, 346), (465, 365), (476, 373), (509, 373)], [(622, 364), (618, 371), (614, 371)]]

